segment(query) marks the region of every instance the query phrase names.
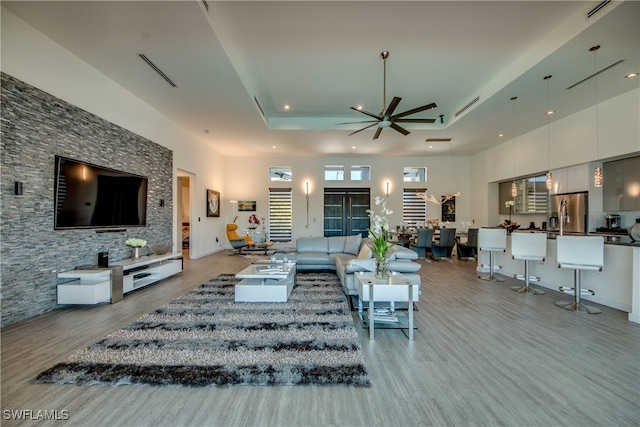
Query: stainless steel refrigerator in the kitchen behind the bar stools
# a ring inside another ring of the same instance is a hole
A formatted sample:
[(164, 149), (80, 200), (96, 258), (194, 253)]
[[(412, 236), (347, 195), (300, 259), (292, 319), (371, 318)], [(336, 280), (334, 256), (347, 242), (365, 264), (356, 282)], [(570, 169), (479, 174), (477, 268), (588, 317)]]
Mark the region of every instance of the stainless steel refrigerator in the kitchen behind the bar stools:
[(589, 218), (589, 193), (586, 191), (550, 195), (547, 230), (560, 231), (560, 213), (563, 201), (567, 205), (564, 232), (587, 234), (589, 229), (587, 222)]

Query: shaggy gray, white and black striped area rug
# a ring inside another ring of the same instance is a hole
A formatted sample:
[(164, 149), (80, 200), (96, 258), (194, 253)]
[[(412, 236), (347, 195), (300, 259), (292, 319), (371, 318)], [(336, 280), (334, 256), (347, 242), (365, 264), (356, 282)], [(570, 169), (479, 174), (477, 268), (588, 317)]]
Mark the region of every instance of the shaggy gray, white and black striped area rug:
[(370, 386), (340, 282), (299, 273), (286, 303), (235, 303), (221, 275), (40, 373), (77, 385)]

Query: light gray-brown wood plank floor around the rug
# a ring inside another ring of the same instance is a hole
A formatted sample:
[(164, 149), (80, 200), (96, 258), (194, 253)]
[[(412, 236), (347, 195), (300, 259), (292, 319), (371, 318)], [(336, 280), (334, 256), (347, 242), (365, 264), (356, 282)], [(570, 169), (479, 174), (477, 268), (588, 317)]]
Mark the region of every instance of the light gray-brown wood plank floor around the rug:
[[(523, 295), (475, 263), (424, 264), (418, 330), (359, 325), (371, 388), (343, 386), (79, 387), (34, 385), (38, 372), (220, 273), (250, 262), (220, 252), (114, 305), (57, 310), (2, 330), (3, 426), (11, 410), (68, 411), (65, 426), (637, 426), (640, 325), (607, 307)], [(23, 412), (24, 413), (24, 412)], [(44, 422), (42, 425), (49, 425)]]

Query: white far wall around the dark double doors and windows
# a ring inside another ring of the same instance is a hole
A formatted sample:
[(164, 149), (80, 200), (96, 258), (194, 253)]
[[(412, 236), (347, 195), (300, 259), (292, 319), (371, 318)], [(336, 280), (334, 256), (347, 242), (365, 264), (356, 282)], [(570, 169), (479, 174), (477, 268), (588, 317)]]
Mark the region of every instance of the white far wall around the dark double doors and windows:
[[(241, 172), (237, 167), (238, 159), (226, 160), (225, 181), (227, 192), (223, 196), (222, 216), (233, 221), (234, 213), (230, 200), (255, 200), (258, 217), (268, 217), (269, 187), (291, 187), (293, 189), (293, 238), (301, 236), (322, 236), (323, 205), (325, 187), (359, 187), (370, 188), (372, 199), (384, 196), (385, 183), (390, 182), (388, 208), (394, 211), (389, 218), (392, 225), (402, 223), (402, 191), (404, 188), (427, 187), (428, 193), (436, 197), (460, 192), (456, 199), (456, 222), (471, 221), (470, 203), (470, 168), (468, 157), (314, 157), (314, 158), (262, 158), (242, 159)], [(351, 165), (368, 165), (371, 167), (370, 181), (324, 181), (325, 165), (344, 165), (348, 175)], [(269, 182), (270, 166), (290, 166), (293, 179), (291, 182)], [(427, 183), (404, 183), (405, 166), (427, 167)], [(306, 228), (305, 182), (310, 183), (309, 196), (309, 228)], [(372, 200), (372, 206), (373, 200)], [(429, 218), (441, 218), (440, 206), (428, 204)], [(242, 230), (248, 225), (248, 217), (252, 212), (238, 213), (237, 224)]]

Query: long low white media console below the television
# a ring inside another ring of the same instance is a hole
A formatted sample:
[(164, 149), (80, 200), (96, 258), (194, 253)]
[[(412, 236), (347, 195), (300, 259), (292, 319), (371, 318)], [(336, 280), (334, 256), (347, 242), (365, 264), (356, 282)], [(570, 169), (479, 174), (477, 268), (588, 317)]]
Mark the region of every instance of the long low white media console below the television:
[(140, 289), (182, 271), (182, 254), (149, 255), (110, 264), (122, 267), (122, 287), (114, 288), (112, 268), (65, 271), (58, 274), (58, 304), (98, 304), (117, 302), (115, 293)]

